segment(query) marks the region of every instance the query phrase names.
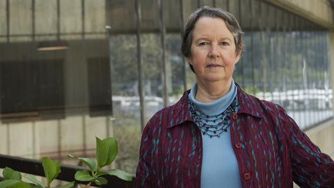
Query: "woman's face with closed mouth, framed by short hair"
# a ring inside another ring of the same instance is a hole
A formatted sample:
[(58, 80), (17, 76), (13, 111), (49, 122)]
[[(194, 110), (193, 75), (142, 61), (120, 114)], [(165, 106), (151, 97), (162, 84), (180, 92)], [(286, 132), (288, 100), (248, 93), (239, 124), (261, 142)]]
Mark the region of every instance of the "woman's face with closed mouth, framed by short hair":
[(198, 19), (193, 29), (191, 57), (186, 58), (193, 65), (198, 81), (230, 80), (239, 58), (233, 35), (223, 19)]

